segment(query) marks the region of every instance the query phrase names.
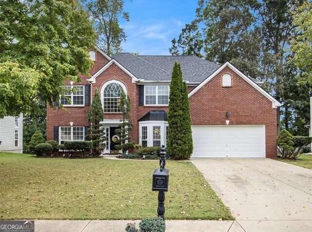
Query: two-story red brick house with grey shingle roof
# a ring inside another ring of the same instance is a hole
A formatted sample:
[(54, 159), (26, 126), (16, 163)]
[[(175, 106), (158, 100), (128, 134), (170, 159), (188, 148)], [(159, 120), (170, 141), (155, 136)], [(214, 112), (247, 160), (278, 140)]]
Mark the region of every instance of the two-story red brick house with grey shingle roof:
[(111, 58), (99, 49), (90, 51), (90, 57), (95, 61), (92, 77), (65, 83), (66, 89), (78, 88), (68, 95), (71, 102), (61, 99), (66, 111), (48, 106), (48, 140), (84, 139), (91, 96), (98, 89), (107, 136), (105, 153), (111, 153), (122, 117), (118, 107), (122, 88), (131, 99), (132, 140), (143, 147), (166, 145), (169, 85), (176, 60), (189, 89), (192, 157), (276, 157), (276, 109), (281, 104), (259, 86), (262, 82), (246, 77), (231, 63), (218, 66), (194, 56), (129, 53)]

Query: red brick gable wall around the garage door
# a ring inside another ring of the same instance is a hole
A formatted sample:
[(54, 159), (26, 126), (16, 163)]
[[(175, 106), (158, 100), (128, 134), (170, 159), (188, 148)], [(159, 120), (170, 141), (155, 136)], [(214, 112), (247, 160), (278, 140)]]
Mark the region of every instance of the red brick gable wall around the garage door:
[[(232, 76), (232, 86), (222, 87), (222, 76)], [(276, 108), (232, 69), (226, 67), (190, 97), (192, 125), (265, 125), (266, 157), (276, 158)]]

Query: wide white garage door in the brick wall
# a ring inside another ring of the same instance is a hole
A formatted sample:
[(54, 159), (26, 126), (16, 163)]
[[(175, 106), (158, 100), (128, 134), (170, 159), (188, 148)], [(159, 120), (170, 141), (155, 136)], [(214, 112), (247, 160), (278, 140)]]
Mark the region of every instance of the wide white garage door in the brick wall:
[(192, 126), (192, 157), (265, 157), (265, 126)]

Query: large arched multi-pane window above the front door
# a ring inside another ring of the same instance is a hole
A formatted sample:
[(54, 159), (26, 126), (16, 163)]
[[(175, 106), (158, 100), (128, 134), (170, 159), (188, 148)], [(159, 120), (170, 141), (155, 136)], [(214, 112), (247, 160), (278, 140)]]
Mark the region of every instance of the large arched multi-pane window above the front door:
[(119, 102), (121, 88), (122, 88), (121, 85), (116, 82), (112, 82), (106, 85), (103, 91), (104, 112), (107, 113), (120, 112)]

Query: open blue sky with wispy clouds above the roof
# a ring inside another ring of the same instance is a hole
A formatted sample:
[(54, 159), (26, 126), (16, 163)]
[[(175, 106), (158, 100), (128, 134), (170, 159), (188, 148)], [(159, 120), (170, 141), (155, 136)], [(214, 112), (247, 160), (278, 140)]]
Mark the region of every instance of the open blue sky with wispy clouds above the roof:
[(120, 21), (127, 40), (123, 52), (139, 55), (170, 55), (171, 40), (186, 23), (195, 19), (197, 0), (125, 0), (130, 21)]

